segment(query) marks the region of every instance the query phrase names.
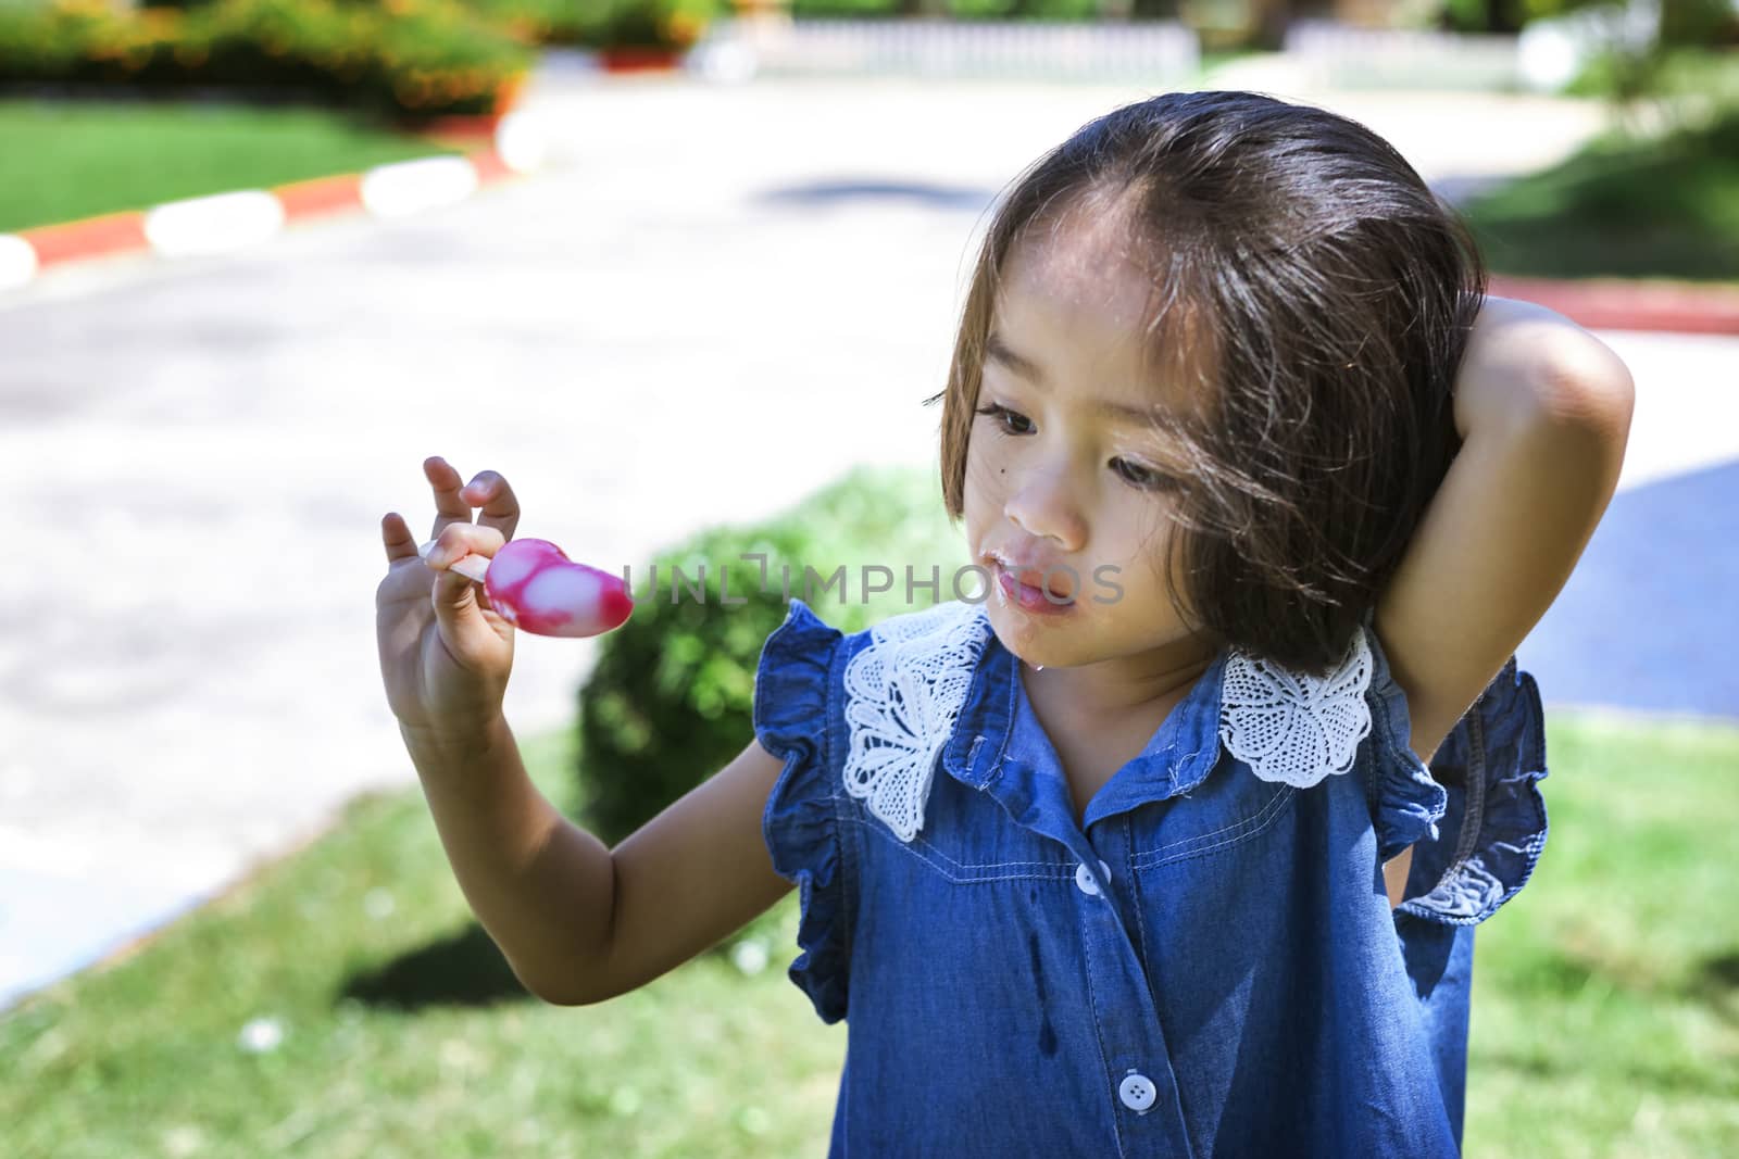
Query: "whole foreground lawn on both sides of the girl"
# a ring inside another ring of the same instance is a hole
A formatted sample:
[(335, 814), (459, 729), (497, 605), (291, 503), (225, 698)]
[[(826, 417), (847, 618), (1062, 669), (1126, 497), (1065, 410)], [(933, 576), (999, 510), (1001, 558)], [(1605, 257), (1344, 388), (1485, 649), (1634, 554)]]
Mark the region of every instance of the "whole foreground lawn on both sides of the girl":
[[(1739, 730), (1553, 714), (1551, 841), (1482, 926), (1468, 1154), (1675, 1159), (1739, 1138)], [(527, 768), (570, 808), (565, 737)], [(602, 1006), (530, 999), (417, 789), (0, 1018), (7, 1154), (821, 1156), (843, 1023), (710, 952)], [(275, 1018), (277, 1050), (240, 1044)]]

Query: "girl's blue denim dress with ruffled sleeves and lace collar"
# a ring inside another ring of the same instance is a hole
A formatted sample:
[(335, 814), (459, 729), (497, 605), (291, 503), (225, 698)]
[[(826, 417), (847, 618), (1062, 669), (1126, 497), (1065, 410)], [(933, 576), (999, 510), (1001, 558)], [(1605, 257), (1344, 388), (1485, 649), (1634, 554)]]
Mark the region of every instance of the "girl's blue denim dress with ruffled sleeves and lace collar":
[(849, 1022), (830, 1159), (1459, 1154), (1544, 718), (1511, 657), (1426, 770), (1372, 615), (1325, 681), (1223, 652), (1076, 824), (981, 605), (842, 634), (791, 601), (755, 735), (790, 977)]

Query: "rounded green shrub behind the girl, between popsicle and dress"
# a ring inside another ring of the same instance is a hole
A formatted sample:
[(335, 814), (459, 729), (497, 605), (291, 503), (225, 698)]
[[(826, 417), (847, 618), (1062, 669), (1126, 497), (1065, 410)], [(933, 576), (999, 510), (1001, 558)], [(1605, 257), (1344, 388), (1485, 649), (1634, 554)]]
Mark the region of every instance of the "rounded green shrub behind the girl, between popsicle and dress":
[[(758, 589), (760, 563), (744, 561), (744, 553), (765, 553), (769, 591)], [(584, 825), (614, 846), (750, 742), (762, 645), (786, 617), (781, 566), (790, 568), (791, 596), (852, 632), (953, 599), (951, 580), (965, 563), (963, 533), (943, 514), (932, 473), (861, 467), (763, 525), (708, 528), (659, 554), (656, 589), (649, 573), (635, 570), (635, 612), (600, 639), (579, 695), (576, 799)], [(699, 599), (692, 593), (703, 565)], [(817, 573), (807, 598), (805, 565)], [(894, 572), (892, 591), (868, 603), (866, 565)], [(918, 589), (908, 603), (908, 565), (918, 580), (939, 568), (939, 594)], [(673, 566), (682, 568), (682, 584), (673, 582)], [(845, 582), (823, 591), (840, 566)], [(729, 573), (725, 593), (720, 570)], [(976, 598), (983, 582), (967, 577), (962, 591)]]

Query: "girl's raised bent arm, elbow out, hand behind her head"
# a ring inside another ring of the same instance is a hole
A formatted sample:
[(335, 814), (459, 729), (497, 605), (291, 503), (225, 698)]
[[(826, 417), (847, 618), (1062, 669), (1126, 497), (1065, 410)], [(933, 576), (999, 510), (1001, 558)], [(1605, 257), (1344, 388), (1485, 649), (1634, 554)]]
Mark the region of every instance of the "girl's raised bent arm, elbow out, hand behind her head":
[(1485, 299), (1456, 377), (1461, 452), (1376, 608), (1423, 761), (1569, 580), (1617, 488), (1633, 405), (1629, 370), (1591, 334)]

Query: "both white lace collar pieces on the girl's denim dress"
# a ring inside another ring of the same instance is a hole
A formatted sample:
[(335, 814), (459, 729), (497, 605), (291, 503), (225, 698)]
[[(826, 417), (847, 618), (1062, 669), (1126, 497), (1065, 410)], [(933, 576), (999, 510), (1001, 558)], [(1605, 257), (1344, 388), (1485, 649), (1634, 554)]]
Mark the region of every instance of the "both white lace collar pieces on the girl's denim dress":
[[(901, 841), (923, 829), (923, 806), (943, 745), (972, 686), (991, 636), (979, 605), (939, 603), (894, 615), (870, 629), (870, 643), (845, 666), (845, 791)], [(1308, 789), (1353, 768), (1370, 733), (1365, 690), (1374, 666), (1365, 629), (1329, 676), (1226, 657), (1219, 738), (1263, 780)]]

